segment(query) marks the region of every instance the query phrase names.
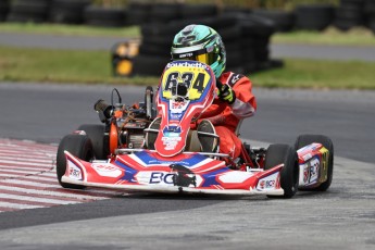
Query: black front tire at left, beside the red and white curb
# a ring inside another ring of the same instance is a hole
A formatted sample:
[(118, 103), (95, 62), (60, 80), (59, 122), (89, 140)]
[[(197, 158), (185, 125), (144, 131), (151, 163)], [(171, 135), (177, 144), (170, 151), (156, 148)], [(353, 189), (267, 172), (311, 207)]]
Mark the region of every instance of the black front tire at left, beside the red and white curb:
[(57, 175), (60, 185), (63, 188), (84, 189), (85, 186), (66, 184), (61, 182), (61, 178), (66, 171), (66, 159), (64, 150), (68, 151), (70, 153), (82, 160), (90, 161), (91, 159), (93, 159), (93, 149), (91, 140), (88, 138), (88, 136), (84, 135), (67, 135), (60, 141), (58, 148)]

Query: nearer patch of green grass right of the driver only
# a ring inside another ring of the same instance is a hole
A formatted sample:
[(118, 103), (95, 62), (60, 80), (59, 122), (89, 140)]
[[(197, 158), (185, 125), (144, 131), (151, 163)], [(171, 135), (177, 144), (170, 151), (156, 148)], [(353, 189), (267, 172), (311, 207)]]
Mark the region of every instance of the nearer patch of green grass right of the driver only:
[(270, 88), (375, 89), (375, 62), (286, 59), (285, 66), (250, 76)]

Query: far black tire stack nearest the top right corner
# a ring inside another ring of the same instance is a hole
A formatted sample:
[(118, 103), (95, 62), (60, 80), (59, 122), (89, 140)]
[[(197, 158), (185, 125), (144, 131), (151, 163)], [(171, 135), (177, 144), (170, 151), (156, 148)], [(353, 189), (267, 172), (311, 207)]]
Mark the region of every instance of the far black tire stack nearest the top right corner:
[(336, 10), (335, 26), (340, 30), (349, 30), (365, 24), (364, 0), (340, 0)]

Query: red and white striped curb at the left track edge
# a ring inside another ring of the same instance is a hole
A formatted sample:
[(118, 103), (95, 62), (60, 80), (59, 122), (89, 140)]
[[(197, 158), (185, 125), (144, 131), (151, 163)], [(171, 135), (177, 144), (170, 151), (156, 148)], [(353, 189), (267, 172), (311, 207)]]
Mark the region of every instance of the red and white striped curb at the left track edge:
[(57, 146), (0, 139), (0, 213), (90, 202), (123, 193), (62, 188), (55, 173), (57, 150)]

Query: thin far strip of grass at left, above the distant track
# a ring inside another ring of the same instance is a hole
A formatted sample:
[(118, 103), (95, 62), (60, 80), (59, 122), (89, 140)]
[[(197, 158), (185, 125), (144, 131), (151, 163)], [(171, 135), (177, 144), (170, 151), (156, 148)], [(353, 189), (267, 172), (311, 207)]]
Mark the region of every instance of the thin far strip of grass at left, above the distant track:
[(0, 23), (0, 32), (48, 34), (65, 36), (104, 36), (139, 38), (139, 26), (129, 27), (95, 27), (85, 25), (34, 24), (34, 23)]

